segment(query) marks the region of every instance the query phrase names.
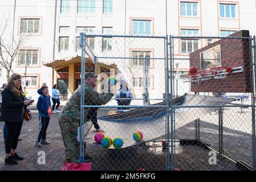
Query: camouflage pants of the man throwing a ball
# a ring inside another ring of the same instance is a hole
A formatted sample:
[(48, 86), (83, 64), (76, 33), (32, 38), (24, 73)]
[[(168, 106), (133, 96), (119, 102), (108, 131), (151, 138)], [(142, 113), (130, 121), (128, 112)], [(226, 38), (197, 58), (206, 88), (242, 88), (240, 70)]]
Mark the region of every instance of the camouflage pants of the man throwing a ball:
[(59, 115), (59, 125), (62, 132), (65, 150), (65, 162), (76, 162), (79, 159), (80, 147), (76, 140), (79, 127), (79, 119), (67, 115)]

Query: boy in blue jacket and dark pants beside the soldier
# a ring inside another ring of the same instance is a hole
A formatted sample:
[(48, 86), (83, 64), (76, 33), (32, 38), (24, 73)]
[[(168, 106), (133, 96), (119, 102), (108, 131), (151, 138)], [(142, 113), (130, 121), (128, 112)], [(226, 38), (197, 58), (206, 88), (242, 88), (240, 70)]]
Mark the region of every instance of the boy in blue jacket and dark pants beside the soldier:
[(51, 101), (48, 96), (48, 87), (42, 86), (41, 90), (42, 94), (39, 96), (36, 104), (39, 116), (39, 130), (38, 135), (36, 136), (35, 147), (42, 147), (42, 144), (50, 144), (50, 142), (46, 140), (46, 130), (50, 122)]

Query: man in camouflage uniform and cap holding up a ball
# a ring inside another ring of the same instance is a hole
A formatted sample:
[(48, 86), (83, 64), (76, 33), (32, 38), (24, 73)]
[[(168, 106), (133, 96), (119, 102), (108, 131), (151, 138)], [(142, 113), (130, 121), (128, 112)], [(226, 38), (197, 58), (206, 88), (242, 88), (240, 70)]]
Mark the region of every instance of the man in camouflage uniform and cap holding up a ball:
[[(113, 97), (113, 93), (97, 93), (94, 90), (96, 81), (94, 73), (86, 73), (86, 84), (84, 86), (85, 105), (104, 105)], [(79, 142), (76, 140), (77, 130), (80, 127), (80, 93), (81, 88), (79, 87), (59, 114), (60, 130), (62, 131), (62, 138), (66, 147), (65, 162), (76, 162), (80, 155)], [(89, 110), (89, 107), (84, 108), (84, 121), (86, 122), (88, 122), (87, 115)]]

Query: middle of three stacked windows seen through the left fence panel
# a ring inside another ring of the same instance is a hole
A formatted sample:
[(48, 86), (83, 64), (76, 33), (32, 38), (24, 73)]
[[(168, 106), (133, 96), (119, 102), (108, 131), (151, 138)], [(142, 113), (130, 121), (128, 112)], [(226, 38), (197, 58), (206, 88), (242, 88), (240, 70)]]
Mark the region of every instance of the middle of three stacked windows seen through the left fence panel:
[[(145, 57), (151, 57), (151, 51), (132, 51), (132, 57), (141, 57), (141, 59), (132, 59), (132, 67), (143, 67)], [(150, 67), (151, 60), (148, 59), (148, 65)]]

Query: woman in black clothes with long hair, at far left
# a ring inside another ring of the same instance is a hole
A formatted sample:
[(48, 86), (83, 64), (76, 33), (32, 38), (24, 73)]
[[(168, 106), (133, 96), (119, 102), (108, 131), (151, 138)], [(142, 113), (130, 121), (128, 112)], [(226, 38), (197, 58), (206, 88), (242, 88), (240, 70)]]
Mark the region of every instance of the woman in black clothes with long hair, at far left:
[(31, 101), (25, 100), (19, 86), (21, 75), (14, 73), (9, 78), (6, 89), (2, 91), (2, 112), (0, 121), (5, 121), (8, 134), (5, 142), (5, 164), (18, 164), (15, 160), (23, 160), (17, 154), (18, 138), (21, 134), (25, 106)]

